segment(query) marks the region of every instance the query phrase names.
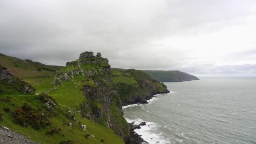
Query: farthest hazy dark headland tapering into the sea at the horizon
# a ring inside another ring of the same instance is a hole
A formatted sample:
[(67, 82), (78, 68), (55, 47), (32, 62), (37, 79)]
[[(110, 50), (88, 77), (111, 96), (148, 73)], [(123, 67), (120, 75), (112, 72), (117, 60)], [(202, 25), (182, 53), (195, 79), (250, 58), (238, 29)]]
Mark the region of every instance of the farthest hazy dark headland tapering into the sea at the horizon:
[(163, 71), (163, 70), (143, 70), (153, 79), (162, 82), (181, 82), (199, 80), (196, 76), (184, 73), (178, 70)]

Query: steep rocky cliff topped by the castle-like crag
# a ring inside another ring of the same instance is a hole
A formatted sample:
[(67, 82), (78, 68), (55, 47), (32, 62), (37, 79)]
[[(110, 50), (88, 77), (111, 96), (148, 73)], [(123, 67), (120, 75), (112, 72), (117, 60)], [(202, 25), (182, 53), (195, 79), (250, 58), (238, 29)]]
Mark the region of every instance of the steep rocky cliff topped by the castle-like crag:
[(67, 62), (66, 68), (55, 77), (55, 85), (70, 81), (81, 75), (85, 101), (80, 105), (82, 115), (96, 123), (112, 129), (115, 134), (129, 142), (130, 129), (123, 117), (120, 99), (114, 92), (114, 85), (108, 59), (92, 52), (81, 53), (79, 59)]

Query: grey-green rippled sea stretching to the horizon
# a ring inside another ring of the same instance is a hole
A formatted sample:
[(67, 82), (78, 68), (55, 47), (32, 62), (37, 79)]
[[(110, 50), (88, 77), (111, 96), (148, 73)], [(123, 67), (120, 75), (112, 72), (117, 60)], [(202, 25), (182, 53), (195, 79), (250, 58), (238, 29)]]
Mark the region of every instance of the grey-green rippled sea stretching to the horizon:
[(166, 82), (149, 104), (123, 107), (151, 143), (256, 143), (256, 78)]

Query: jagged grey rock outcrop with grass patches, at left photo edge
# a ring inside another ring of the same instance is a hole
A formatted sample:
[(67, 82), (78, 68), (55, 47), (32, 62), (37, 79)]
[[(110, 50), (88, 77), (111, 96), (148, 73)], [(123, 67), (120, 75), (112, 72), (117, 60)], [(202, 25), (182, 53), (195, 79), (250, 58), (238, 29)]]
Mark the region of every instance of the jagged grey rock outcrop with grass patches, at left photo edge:
[(7, 68), (0, 65), (0, 94), (8, 92), (21, 92), (23, 94), (34, 94), (35, 89), (28, 83), (11, 74)]

